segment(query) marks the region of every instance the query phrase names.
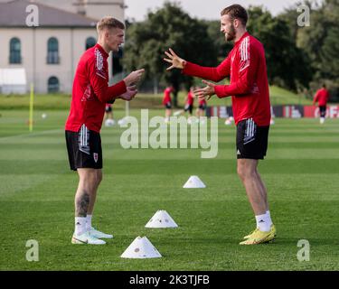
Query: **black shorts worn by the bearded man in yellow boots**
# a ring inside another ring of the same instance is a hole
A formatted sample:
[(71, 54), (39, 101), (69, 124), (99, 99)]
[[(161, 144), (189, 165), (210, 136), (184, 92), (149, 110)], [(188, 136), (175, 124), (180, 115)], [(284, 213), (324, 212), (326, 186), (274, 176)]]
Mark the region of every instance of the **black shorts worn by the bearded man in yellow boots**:
[(268, 150), (269, 126), (257, 126), (252, 118), (237, 125), (237, 158), (263, 160)]

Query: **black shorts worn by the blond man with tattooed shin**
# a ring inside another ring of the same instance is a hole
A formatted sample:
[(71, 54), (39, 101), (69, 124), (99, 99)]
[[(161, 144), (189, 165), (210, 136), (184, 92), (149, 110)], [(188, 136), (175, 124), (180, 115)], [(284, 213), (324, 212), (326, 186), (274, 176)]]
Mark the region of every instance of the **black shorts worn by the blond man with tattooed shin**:
[(80, 168), (102, 169), (102, 149), (100, 134), (85, 125), (79, 132), (65, 131), (67, 151), (71, 170)]

